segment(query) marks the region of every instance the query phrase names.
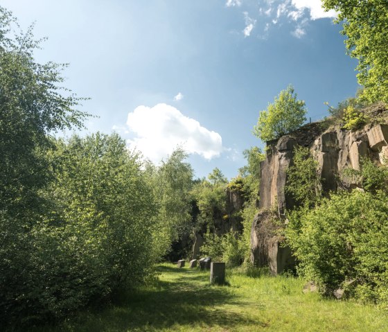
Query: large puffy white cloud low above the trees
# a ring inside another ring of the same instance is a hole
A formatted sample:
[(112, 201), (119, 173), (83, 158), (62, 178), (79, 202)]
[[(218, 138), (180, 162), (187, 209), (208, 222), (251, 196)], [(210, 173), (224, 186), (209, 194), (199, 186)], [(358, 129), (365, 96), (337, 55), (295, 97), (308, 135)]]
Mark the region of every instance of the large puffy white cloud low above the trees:
[(134, 139), (127, 140), (130, 148), (140, 150), (154, 162), (170, 155), (179, 145), (205, 159), (218, 157), (222, 152), (220, 134), (170, 105), (138, 106), (128, 114), (127, 125), (136, 134)]

